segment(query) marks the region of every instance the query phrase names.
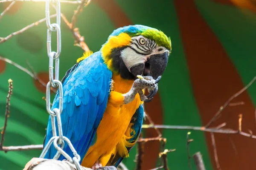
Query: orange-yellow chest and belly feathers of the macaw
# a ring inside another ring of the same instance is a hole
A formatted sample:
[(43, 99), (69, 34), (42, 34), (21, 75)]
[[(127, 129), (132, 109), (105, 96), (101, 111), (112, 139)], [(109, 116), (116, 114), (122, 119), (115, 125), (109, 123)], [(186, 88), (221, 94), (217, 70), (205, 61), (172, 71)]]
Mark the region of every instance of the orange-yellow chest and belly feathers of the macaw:
[[(130, 121), (137, 108), (140, 106), (140, 96), (123, 105), (124, 97), (133, 84), (133, 80), (122, 79), (119, 75), (113, 74), (113, 87), (108, 99), (107, 108), (102, 121), (97, 129), (96, 143), (91, 146), (82, 161), (84, 167), (92, 167), (96, 161), (100, 160), (102, 166), (108, 163), (111, 154), (118, 152), (123, 157), (128, 156), (128, 151), (123, 139), (130, 137)], [(127, 135), (127, 137), (125, 136)]]

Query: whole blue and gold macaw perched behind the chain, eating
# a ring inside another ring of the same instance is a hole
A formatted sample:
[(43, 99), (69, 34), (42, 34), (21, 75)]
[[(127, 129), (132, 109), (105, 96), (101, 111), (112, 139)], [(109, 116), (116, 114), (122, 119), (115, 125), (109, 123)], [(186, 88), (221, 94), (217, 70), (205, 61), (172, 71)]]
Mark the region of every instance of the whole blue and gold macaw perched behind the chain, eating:
[[(61, 80), (62, 129), (81, 156), (82, 166), (117, 167), (129, 156), (140, 136), (143, 102), (156, 93), (171, 49), (171, 40), (162, 31), (125, 26), (113, 31), (100, 51), (84, 54), (67, 71)], [(144, 88), (151, 91), (149, 96), (144, 96)], [(57, 91), (52, 109), (58, 108), (58, 98)], [(49, 118), (44, 144), (51, 137)], [(67, 144), (63, 150), (73, 157)], [(52, 159), (55, 153), (51, 146), (45, 158)]]

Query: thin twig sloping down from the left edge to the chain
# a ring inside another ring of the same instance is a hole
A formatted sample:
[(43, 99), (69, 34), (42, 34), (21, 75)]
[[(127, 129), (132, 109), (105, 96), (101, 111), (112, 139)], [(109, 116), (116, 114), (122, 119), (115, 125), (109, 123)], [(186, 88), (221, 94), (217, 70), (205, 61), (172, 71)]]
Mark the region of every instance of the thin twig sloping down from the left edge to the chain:
[[(26, 74), (28, 74), (30, 77), (32, 77), (33, 79), (35, 79), (36, 81), (38, 81), (41, 85), (43, 85), (44, 87), (46, 87), (46, 84), (37, 76), (37, 74), (35, 74), (35, 71), (33, 71), (33, 73), (31, 71), (29, 71), (28, 69), (22, 67), (21, 65), (17, 64), (16, 62), (13, 62), (10, 59), (4, 58), (0, 56), (0, 60), (3, 60), (5, 62), (8, 62), (11, 65), (14, 65), (16, 68), (20, 69), (21, 71), (24, 71)], [(28, 64), (29, 65), (29, 64)], [(29, 67), (32, 69), (32, 67), (29, 65)], [(54, 93), (56, 93), (56, 90), (54, 88), (51, 88), (51, 91), (53, 91)]]

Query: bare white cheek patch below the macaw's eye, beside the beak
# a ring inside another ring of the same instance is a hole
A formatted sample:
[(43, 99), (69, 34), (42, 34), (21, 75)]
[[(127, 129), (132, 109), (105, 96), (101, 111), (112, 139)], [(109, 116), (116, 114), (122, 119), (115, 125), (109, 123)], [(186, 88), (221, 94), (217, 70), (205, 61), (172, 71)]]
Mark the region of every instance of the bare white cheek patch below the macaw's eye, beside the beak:
[(123, 62), (125, 63), (125, 66), (130, 71), (131, 67), (140, 63), (145, 63), (147, 61), (147, 56), (137, 54), (134, 50), (131, 48), (125, 48), (121, 52), (121, 57)]

